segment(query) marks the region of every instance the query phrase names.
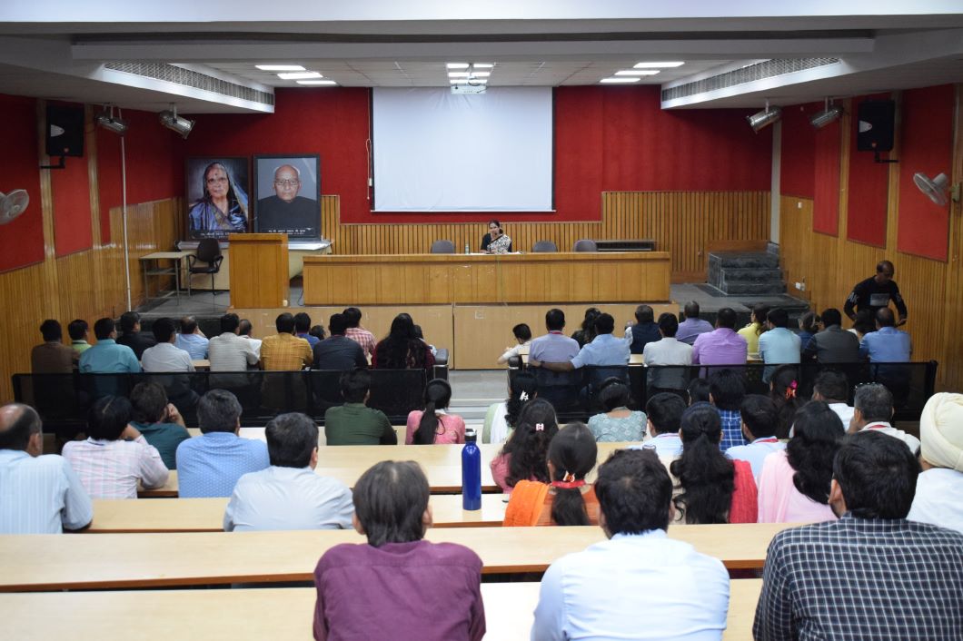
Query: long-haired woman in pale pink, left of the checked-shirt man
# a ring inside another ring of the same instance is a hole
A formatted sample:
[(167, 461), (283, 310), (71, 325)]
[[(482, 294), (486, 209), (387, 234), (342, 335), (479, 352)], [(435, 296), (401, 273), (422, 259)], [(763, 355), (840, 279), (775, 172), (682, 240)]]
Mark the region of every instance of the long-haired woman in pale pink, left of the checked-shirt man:
[(843, 422), (829, 405), (813, 400), (796, 410), (793, 433), (786, 449), (766, 457), (759, 476), (759, 523), (832, 521), (829, 486)]

